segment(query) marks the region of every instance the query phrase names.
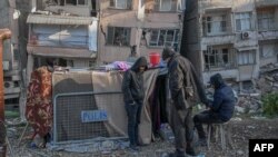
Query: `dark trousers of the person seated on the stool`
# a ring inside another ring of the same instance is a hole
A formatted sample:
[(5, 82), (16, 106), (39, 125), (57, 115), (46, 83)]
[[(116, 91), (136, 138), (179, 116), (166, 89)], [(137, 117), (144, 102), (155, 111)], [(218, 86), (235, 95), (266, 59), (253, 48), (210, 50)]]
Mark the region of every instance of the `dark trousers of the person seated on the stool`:
[(203, 130), (202, 124), (222, 124), (220, 116), (211, 110), (205, 110), (193, 117), (195, 127), (198, 131), (199, 139), (206, 139), (206, 133)]

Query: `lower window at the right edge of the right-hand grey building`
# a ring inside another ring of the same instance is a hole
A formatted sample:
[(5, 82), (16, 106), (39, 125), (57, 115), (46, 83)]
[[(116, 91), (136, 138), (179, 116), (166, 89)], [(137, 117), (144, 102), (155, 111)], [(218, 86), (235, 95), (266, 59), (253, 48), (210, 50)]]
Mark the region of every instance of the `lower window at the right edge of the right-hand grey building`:
[(260, 57), (261, 58), (271, 58), (278, 50), (277, 43), (264, 43), (260, 45)]

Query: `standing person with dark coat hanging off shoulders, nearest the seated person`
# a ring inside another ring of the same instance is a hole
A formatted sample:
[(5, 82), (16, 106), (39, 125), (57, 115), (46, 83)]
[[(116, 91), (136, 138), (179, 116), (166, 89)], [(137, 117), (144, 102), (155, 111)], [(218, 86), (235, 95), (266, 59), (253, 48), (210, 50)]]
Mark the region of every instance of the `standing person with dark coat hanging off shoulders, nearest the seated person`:
[(162, 59), (168, 63), (169, 88), (172, 105), (170, 105), (169, 124), (173, 130), (176, 151), (170, 156), (185, 157), (197, 155), (193, 146), (192, 106), (198, 101), (207, 104), (203, 85), (199, 80), (192, 63), (167, 47)]

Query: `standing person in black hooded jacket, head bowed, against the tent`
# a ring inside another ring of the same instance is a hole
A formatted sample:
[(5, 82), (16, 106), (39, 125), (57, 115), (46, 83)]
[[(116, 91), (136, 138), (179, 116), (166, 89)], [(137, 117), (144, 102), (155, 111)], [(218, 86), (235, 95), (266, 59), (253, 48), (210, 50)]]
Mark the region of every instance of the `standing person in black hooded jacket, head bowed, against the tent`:
[(137, 59), (135, 65), (125, 72), (122, 80), (122, 92), (125, 108), (128, 115), (128, 136), (130, 148), (138, 150), (138, 125), (140, 124), (141, 108), (145, 97), (143, 71), (148, 69), (145, 57)]

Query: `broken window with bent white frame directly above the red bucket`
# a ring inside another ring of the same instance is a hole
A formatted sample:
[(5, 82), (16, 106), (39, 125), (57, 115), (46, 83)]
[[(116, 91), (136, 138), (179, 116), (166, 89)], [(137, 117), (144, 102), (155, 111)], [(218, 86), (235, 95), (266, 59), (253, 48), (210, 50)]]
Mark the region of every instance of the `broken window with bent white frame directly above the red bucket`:
[(179, 30), (159, 30), (152, 29), (150, 30), (150, 47), (173, 47), (178, 48), (178, 43), (180, 40)]

